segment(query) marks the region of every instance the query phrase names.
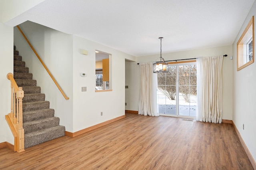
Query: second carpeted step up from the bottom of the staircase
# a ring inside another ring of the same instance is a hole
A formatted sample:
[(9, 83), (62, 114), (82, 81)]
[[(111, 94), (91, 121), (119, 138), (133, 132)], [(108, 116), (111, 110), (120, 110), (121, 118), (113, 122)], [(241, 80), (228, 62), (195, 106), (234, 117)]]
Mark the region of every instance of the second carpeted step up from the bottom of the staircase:
[(58, 126), (60, 123), (60, 118), (49, 117), (46, 119), (40, 119), (36, 121), (29, 121), (23, 123), (24, 134), (35, 132), (38, 130), (43, 130), (50, 127)]

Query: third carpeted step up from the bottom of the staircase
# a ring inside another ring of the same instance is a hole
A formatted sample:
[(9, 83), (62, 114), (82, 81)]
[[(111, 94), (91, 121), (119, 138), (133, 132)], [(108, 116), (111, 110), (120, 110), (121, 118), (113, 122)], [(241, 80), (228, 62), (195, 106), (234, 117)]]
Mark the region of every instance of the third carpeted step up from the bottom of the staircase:
[(23, 112), (23, 123), (28, 121), (36, 121), (39, 119), (46, 119), (49, 117), (54, 117), (54, 109), (27, 111)]

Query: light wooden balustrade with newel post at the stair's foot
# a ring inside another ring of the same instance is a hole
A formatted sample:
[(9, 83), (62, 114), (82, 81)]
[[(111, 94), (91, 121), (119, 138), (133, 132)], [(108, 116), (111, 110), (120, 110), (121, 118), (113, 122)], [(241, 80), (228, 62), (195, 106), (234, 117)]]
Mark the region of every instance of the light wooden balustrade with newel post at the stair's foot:
[(24, 128), (22, 118), (22, 99), (24, 91), (18, 87), (13, 74), (8, 73), (7, 79), (11, 82), (11, 112), (5, 115), (5, 119), (14, 136), (14, 151), (24, 151)]

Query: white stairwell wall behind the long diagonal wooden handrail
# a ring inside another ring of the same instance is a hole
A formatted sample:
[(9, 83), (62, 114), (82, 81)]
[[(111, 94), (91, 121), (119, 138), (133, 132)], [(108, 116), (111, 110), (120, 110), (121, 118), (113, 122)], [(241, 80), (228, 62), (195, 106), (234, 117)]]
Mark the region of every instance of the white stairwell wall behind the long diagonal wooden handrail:
[(33, 73), (33, 79), (41, 87), (41, 93), (45, 93), (45, 100), (50, 101), (50, 108), (55, 110), (55, 116), (60, 117), (60, 125), (64, 125), (67, 131), (72, 131), (72, 36), (29, 21), (20, 24), (20, 28), (70, 98), (66, 100), (63, 97), (18, 28), (14, 27), (14, 44), (22, 61), (26, 62), (29, 72)]

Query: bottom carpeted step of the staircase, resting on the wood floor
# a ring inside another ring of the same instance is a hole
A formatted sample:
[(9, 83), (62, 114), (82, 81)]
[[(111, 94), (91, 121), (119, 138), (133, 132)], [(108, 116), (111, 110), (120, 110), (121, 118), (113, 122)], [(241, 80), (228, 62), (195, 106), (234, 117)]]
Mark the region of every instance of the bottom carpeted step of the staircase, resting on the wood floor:
[(61, 136), (65, 136), (65, 127), (56, 126), (24, 134), (24, 148), (34, 146)]

